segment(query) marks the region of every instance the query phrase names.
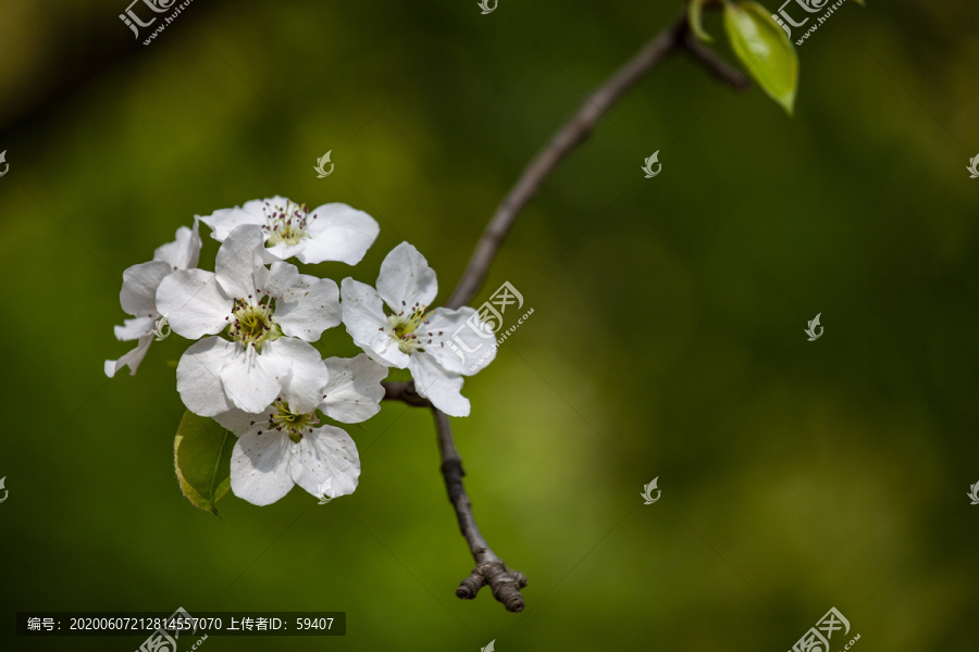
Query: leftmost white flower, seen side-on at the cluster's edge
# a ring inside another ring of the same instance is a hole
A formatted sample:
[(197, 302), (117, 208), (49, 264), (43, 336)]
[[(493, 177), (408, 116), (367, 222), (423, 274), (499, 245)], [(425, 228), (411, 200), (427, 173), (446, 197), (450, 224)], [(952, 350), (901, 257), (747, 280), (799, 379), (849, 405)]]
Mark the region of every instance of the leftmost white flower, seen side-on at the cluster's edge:
[(197, 217), (194, 218), (194, 228), (182, 226), (176, 231), (176, 239), (158, 247), (153, 252), (153, 260), (149, 263), (133, 265), (123, 272), (123, 289), (119, 294), (119, 302), (126, 313), (134, 318), (126, 319), (125, 324), (115, 327), (115, 337), (123, 341), (139, 340), (136, 348), (119, 360), (107, 360), (104, 369), (110, 378), (124, 366), (129, 367), (129, 375), (136, 375), (136, 368), (150, 342), (153, 341), (153, 325), (160, 318), (157, 312), (157, 288), (175, 269), (196, 267), (200, 258), (200, 235), (197, 233)]

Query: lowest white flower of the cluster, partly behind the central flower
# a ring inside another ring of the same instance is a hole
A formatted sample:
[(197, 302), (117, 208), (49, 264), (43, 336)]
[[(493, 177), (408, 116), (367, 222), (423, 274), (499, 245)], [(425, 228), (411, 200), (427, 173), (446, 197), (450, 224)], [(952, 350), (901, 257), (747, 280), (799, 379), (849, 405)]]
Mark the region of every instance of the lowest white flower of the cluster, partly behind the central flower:
[[(367, 355), (323, 362), (330, 381), (317, 405), (327, 416), (347, 423), (370, 418), (381, 409), (381, 380), (387, 369)], [(283, 498), (295, 485), (321, 499), (354, 493), (360, 456), (340, 428), (324, 426), (315, 410), (297, 411), (288, 392), (260, 414), (231, 410), (214, 418), (238, 435), (232, 453), (232, 491), (256, 505)]]

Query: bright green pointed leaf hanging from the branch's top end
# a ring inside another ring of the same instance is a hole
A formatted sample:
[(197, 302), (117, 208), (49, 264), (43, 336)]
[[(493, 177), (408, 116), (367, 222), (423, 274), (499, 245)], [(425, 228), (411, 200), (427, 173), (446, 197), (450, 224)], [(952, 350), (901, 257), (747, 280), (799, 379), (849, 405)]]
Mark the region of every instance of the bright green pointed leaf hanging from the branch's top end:
[(724, 2), (724, 30), (752, 77), (792, 115), (798, 59), (785, 32), (756, 2)]

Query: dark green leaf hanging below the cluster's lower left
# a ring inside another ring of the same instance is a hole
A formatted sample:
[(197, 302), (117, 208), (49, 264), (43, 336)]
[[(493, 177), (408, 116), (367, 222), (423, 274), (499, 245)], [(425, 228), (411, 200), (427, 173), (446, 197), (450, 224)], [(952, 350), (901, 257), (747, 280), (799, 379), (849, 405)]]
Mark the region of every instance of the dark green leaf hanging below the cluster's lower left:
[(181, 490), (194, 506), (218, 516), (218, 501), (231, 488), (235, 436), (218, 422), (185, 412), (173, 440), (173, 462)]

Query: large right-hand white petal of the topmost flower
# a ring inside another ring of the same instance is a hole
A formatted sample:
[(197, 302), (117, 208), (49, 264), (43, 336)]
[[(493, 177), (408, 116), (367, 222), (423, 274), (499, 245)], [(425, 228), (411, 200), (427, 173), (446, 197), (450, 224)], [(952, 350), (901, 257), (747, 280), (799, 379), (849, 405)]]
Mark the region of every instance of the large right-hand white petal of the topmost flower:
[(357, 209), (344, 203), (329, 203), (310, 212), (307, 222), (308, 238), (298, 247), (295, 255), (303, 263), (339, 261), (356, 265), (377, 238), (377, 222)]

